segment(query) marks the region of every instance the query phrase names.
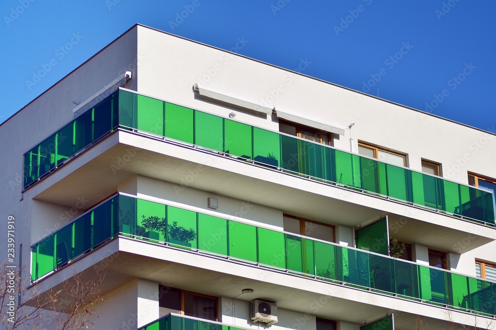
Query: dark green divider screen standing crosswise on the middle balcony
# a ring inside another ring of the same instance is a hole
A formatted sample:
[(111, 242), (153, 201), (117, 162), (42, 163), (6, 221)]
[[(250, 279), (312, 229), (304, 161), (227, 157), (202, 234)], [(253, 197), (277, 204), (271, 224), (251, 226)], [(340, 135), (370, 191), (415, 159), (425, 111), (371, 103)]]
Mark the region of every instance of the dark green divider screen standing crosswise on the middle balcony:
[(382, 218), (356, 231), (357, 247), (362, 250), (389, 255), (386, 218)]

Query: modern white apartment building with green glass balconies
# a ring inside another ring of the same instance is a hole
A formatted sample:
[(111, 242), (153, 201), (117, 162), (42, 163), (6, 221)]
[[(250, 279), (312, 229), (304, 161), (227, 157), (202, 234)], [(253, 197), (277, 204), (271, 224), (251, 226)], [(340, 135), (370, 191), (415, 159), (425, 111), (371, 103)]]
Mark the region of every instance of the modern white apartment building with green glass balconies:
[(0, 138), (22, 299), (105, 274), (96, 329), (496, 326), (494, 132), (138, 24)]

